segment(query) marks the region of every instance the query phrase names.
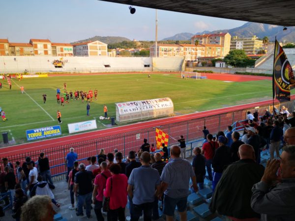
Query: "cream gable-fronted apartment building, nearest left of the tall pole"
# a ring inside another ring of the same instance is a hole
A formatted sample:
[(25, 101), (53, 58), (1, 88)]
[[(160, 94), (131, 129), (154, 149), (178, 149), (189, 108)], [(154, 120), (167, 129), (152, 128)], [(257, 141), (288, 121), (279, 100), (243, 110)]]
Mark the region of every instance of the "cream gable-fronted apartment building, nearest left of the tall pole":
[(101, 41), (88, 41), (73, 44), (74, 56), (107, 56), (108, 45)]

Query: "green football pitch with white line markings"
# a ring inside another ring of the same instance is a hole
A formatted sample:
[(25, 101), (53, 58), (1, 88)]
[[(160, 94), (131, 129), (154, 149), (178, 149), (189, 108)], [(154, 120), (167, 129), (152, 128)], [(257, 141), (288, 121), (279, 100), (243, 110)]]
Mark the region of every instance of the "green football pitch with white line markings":
[[(68, 135), (68, 123), (96, 118), (98, 129), (106, 128), (110, 120), (99, 120), (103, 116), (103, 105), (108, 115), (116, 116), (114, 103), (144, 99), (170, 97), (175, 114), (207, 111), (239, 104), (271, 99), (271, 81), (224, 82), (218, 80), (181, 79), (179, 74), (110, 74), (56, 76), (48, 78), (26, 78), (12, 80), (9, 90), (7, 81), (0, 89), (0, 107), (6, 113), (7, 121), (0, 120), (0, 133), (10, 131), (17, 143), (26, 139), (26, 130), (58, 125), (57, 110), (61, 111), (62, 136)], [(230, 81), (230, 79), (229, 79)], [(67, 91), (98, 90), (98, 99), (90, 104), (90, 115), (86, 114), (87, 103), (70, 101), (63, 107), (57, 104), (56, 89)], [(21, 93), (20, 86), (25, 92)], [(43, 104), (42, 94), (47, 94)], [(102, 124), (102, 123), (103, 124)]]

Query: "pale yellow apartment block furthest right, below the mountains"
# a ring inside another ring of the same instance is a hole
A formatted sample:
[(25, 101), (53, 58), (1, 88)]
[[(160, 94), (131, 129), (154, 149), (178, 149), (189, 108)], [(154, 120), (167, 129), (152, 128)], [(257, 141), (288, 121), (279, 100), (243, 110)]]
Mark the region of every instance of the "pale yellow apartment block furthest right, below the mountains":
[(263, 49), (263, 41), (256, 37), (256, 35), (249, 38), (233, 36), (231, 40), (231, 50), (234, 49), (242, 49), (247, 55), (256, 55)]

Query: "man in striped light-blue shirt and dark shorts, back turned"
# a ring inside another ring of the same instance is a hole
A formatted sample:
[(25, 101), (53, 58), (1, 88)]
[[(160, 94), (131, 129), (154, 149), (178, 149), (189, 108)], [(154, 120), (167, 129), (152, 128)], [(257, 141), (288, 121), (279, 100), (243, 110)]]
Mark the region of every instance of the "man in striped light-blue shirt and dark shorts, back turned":
[(177, 210), (181, 221), (186, 221), (186, 204), (189, 191), (189, 180), (193, 181), (193, 188), (197, 192), (196, 175), (191, 164), (180, 158), (180, 147), (171, 147), (171, 160), (163, 169), (161, 175), (161, 193), (164, 193), (163, 213), (166, 221), (173, 221), (174, 211)]

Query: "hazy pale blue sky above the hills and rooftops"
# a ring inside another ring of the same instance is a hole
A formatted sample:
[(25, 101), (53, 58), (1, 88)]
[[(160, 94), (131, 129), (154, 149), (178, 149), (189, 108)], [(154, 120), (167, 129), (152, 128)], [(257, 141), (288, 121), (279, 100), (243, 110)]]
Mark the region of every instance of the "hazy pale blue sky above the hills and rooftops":
[[(2, 0), (0, 38), (73, 42), (95, 35), (154, 40), (155, 10), (100, 0)], [(180, 32), (236, 28), (245, 22), (158, 10), (158, 39)]]

